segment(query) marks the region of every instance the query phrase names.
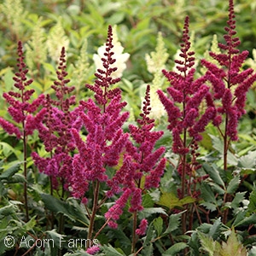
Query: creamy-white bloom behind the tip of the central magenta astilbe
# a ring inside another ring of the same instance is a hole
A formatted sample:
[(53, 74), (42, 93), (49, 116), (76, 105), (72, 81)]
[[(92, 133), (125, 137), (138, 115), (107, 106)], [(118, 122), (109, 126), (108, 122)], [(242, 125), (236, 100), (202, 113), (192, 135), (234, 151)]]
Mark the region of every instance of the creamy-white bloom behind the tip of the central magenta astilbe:
[[(105, 49), (106, 49), (106, 44), (99, 47), (99, 49), (97, 50), (97, 55), (96, 54), (93, 55), (93, 61), (96, 65), (96, 70), (104, 69), (104, 67), (102, 66), (102, 58), (105, 58), (105, 55), (104, 55)], [(116, 60), (115, 66), (118, 67), (118, 69), (111, 74), (111, 77), (113, 79), (118, 79), (122, 77), (122, 74), (126, 69), (125, 62), (128, 61), (130, 54), (123, 53), (124, 47), (118, 41), (116, 26), (113, 26), (113, 49), (112, 50), (114, 52), (113, 57)]]

